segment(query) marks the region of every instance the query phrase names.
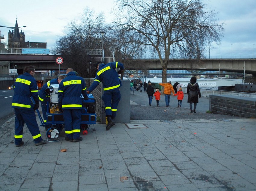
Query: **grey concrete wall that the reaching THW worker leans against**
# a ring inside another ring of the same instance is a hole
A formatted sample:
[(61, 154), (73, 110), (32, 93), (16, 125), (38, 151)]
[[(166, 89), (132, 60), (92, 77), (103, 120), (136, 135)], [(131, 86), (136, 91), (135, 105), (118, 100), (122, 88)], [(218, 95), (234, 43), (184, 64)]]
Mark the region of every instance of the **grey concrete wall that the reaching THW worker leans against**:
[[(84, 78), (86, 82), (86, 89), (93, 83), (94, 78)], [(117, 115), (115, 118), (116, 123), (130, 123), (130, 81), (121, 80), (122, 86), (120, 87), (121, 100), (117, 107)], [(127, 93), (128, 92), (128, 93)], [(105, 106), (101, 100), (104, 94), (103, 85), (100, 83), (93, 91), (92, 95), (96, 100), (96, 114), (97, 119), (100, 119), (101, 124), (106, 123)]]

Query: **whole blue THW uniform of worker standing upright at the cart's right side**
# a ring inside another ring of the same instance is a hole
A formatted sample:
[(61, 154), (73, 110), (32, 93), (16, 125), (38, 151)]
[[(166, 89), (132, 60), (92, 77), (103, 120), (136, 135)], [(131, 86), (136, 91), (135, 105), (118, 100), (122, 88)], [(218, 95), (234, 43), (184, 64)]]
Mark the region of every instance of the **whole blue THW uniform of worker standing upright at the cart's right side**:
[(84, 79), (74, 72), (67, 73), (58, 89), (59, 108), (63, 110), (65, 133), (69, 139), (80, 138), (82, 98), (88, 98)]

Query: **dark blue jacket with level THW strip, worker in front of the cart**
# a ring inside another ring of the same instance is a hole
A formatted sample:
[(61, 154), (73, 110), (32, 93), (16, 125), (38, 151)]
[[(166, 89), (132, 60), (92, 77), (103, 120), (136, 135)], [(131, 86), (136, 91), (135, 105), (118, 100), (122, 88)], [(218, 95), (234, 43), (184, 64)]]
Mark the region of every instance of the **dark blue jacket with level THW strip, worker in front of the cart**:
[(67, 73), (67, 77), (61, 81), (58, 89), (59, 105), (64, 109), (82, 109), (82, 98), (88, 98), (84, 79), (76, 76), (74, 72)]

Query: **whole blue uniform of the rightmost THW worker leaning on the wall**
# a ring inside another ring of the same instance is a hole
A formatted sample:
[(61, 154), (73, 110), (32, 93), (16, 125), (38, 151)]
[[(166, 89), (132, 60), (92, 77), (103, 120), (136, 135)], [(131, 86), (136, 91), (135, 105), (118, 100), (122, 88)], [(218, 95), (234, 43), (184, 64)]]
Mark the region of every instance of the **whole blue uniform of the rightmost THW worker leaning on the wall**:
[(121, 99), (119, 88), (121, 81), (118, 78), (116, 68), (123, 70), (123, 64), (120, 62), (110, 62), (108, 64), (99, 65), (99, 70), (96, 73), (94, 82), (89, 87), (88, 91), (92, 92), (100, 82), (103, 84), (104, 94), (101, 99), (105, 104), (106, 116), (112, 116), (113, 118), (117, 113), (117, 106)]

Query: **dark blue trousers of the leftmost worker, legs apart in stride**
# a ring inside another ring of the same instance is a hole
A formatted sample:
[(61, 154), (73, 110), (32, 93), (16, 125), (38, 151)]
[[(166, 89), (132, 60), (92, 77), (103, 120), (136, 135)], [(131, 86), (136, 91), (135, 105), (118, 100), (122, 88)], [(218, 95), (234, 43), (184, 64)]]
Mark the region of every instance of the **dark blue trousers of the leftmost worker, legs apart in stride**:
[(15, 112), (15, 145), (20, 145), (23, 137), (23, 127), (26, 123), (31, 135), (33, 136), (34, 142), (38, 143), (42, 140), (40, 130), (36, 121), (36, 114), (33, 110), (17, 109), (14, 108)]

